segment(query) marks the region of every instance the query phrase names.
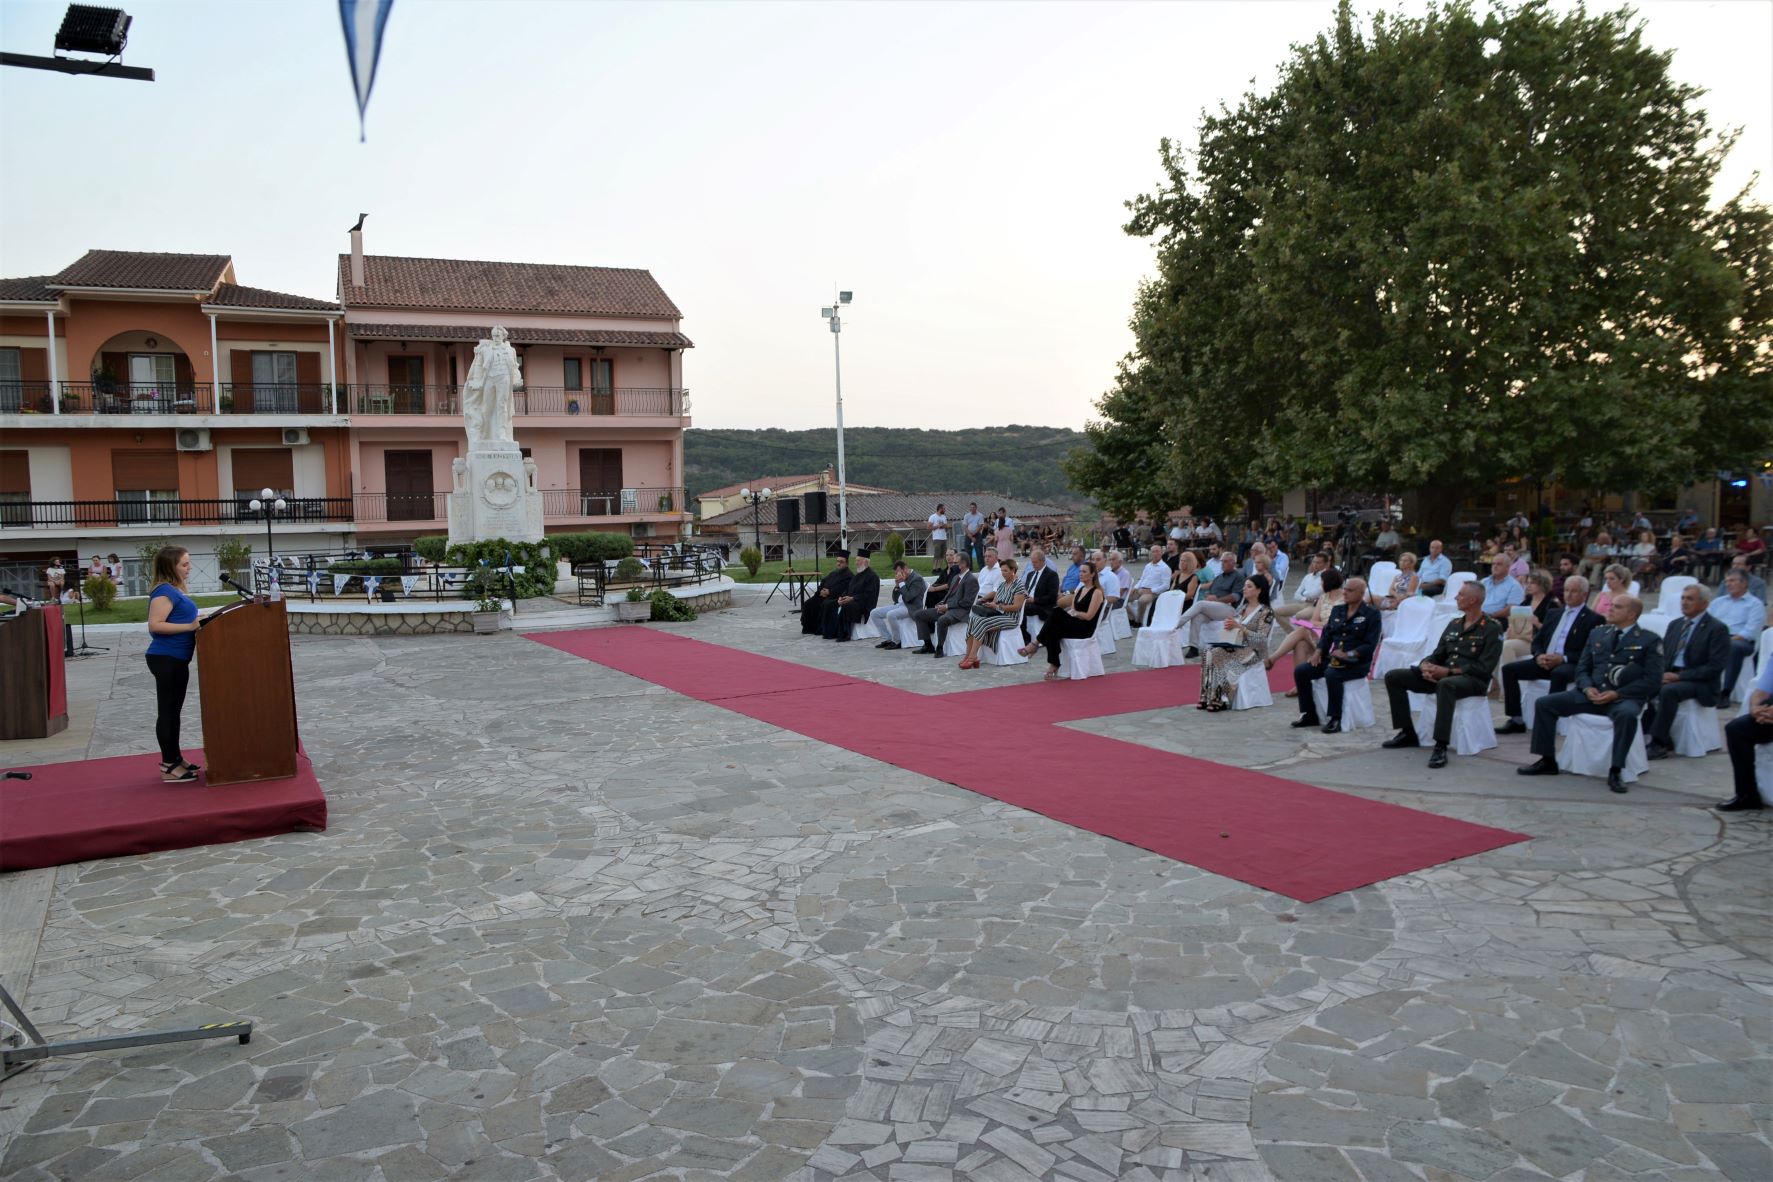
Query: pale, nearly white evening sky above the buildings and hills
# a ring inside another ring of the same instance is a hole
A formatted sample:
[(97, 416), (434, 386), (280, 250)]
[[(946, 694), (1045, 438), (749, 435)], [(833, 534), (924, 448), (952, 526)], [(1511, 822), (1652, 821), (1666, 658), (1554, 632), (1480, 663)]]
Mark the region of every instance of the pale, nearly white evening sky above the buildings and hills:
[[(1122, 202), (1160, 136), (1335, 11), (397, 0), (358, 144), (335, 4), (124, 7), (158, 82), (0, 69), (0, 275), (181, 250), (335, 298), (360, 211), (371, 253), (647, 268), (700, 427), (832, 422), (835, 287), (846, 424), (1080, 427), (1131, 347)], [(1773, 0), (1636, 7), (1743, 129), (1720, 191), (1773, 177)], [(50, 53), (64, 9), (0, 0), (0, 48)]]

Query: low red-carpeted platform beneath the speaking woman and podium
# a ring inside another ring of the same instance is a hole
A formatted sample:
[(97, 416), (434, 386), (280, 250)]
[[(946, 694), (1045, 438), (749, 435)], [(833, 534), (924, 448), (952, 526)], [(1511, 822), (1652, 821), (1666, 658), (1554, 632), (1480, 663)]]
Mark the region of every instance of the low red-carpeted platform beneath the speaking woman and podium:
[[(191, 755), (204, 762), (202, 751)], [(158, 755), (18, 767), (0, 780), (0, 870), (151, 854), (326, 828), (326, 796), (307, 755), (289, 780), (161, 783)]]

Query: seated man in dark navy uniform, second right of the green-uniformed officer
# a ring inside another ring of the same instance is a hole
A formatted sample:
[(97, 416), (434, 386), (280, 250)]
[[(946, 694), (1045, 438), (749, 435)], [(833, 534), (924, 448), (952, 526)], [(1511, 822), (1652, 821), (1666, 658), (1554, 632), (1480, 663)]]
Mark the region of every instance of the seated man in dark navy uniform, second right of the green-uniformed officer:
[(1530, 750), (1539, 757), (1527, 767), (1516, 767), (1523, 776), (1555, 776), (1557, 725), (1573, 714), (1606, 714), (1613, 723), (1613, 760), (1606, 771), (1606, 787), (1624, 792), (1621, 773), (1626, 753), (1638, 734), (1638, 714), (1661, 686), (1661, 638), (1647, 627), (1638, 627), (1644, 604), (1631, 595), (1613, 597), (1606, 610), (1606, 627), (1594, 629), (1589, 647), (1576, 665), (1576, 688), (1548, 693), (1534, 712), (1534, 739)]

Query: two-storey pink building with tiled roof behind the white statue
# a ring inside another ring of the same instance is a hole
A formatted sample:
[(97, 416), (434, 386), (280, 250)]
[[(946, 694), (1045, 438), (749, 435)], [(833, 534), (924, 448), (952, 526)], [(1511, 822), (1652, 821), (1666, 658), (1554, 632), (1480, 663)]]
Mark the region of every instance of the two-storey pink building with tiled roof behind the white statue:
[(516, 436), (535, 459), (550, 533), (676, 539), (683, 491), (681, 312), (647, 271), (339, 255), (349, 466), (363, 542), (447, 528), (459, 392), (504, 324), (523, 362)]

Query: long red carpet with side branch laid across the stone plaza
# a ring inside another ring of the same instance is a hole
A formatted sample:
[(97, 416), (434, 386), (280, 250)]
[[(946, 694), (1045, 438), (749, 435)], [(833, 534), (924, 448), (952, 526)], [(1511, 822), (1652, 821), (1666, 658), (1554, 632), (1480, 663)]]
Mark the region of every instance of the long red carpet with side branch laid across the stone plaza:
[[(784, 730), (1312, 902), (1525, 835), (1053, 727), (1197, 700), (1195, 666), (918, 695), (647, 627), (530, 640)], [(1277, 670), (1280, 673), (1282, 670)], [(993, 758), (961, 760), (991, 705)], [(956, 709), (959, 707), (959, 709)], [(1179, 716), (1177, 727), (1211, 727)], [(1282, 725), (1277, 712), (1277, 725)], [(1411, 762), (1411, 774), (1418, 764)]]

